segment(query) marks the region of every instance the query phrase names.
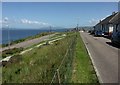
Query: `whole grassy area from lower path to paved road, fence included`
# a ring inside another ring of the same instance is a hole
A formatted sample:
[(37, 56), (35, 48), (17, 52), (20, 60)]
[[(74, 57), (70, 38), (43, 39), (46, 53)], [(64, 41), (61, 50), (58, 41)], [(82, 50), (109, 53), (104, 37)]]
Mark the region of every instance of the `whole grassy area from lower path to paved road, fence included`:
[(13, 57), (2, 70), (3, 83), (98, 82), (79, 33), (72, 32), (53, 44)]

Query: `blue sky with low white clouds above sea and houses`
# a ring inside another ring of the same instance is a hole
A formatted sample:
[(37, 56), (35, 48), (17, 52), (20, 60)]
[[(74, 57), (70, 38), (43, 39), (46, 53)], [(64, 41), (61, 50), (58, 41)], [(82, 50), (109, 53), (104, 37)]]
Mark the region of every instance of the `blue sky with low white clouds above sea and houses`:
[(117, 2), (3, 2), (2, 21), (10, 28), (93, 26), (118, 11)]

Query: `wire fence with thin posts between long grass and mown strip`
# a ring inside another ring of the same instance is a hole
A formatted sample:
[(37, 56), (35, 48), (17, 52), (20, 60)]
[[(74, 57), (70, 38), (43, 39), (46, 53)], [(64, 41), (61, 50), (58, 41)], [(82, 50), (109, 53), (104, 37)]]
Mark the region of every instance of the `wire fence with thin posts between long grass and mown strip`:
[(56, 69), (50, 85), (53, 85), (54, 83), (59, 83), (59, 85), (61, 85), (62, 83), (68, 83), (70, 81), (72, 75), (72, 62), (74, 56), (74, 48), (76, 45), (76, 37), (77, 36), (72, 37), (69, 47), (60, 65)]

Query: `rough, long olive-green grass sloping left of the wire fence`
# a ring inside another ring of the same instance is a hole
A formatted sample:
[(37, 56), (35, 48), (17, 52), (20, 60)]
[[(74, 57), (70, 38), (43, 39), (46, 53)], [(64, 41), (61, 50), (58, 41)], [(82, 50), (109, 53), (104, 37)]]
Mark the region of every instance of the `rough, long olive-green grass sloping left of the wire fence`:
[[(21, 56), (20, 61), (3, 67), (5, 83), (50, 83), (74, 36), (68, 36), (52, 45), (35, 48)], [(67, 61), (69, 62), (69, 61)], [(66, 74), (67, 62), (61, 67), (61, 80)], [(54, 82), (57, 82), (55, 79)], [(62, 80), (64, 82), (64, 80)]]

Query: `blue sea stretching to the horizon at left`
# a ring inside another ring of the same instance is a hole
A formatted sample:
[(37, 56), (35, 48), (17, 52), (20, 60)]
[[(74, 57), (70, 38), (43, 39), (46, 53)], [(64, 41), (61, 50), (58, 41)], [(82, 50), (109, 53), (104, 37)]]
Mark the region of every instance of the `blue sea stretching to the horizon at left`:
[[(53, 29), (51, 30), (53, 32), (64, 32), (66, 29)], [(10, 41), (19, 40), (22, 38), (26, 38), (29, 36), (34, 36), (41, 32), (49, 32), (49, 30), (41, 30), (41, 29), (10, 29), (9, 35), (10, 35)], [(7, 44), (8, 43), (8, 30), (2, 29), (0, 30), (0, 44)]]

